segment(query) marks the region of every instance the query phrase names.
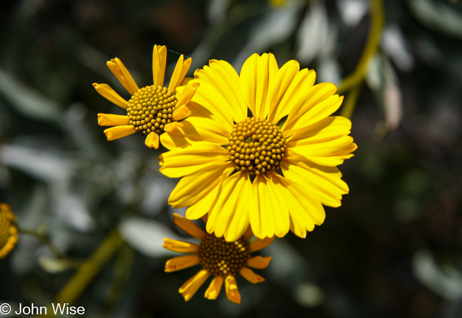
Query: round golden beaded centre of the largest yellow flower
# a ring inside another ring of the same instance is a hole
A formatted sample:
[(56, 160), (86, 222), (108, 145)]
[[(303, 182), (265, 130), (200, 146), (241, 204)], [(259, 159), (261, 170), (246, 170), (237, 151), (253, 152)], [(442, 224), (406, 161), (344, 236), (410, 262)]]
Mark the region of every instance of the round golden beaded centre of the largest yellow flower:
[(247, 117), (232, 128), (228, 150), (236, 169), (249, 174), (277, 170), (285, 157), (281, 129), (266, 119)]

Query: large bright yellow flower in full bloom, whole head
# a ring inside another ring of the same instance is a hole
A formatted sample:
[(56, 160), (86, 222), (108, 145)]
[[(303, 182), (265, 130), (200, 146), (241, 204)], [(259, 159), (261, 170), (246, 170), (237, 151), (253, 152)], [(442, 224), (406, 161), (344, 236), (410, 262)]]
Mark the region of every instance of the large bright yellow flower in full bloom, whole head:
[(190, 117), (161, 136), (171, 151), (160, 171), (182, 177), (169, 204), (189, 206), (192, 220), (208, 212), (207, 231), (227, 241), (249, 224), (258, 238), (304, 238), (322, 224), (322, 205), (340, 206), (349, 191), (336, 166), (357, 147), (350, 120), (330, 116), (343, 96), (315, 79), (294, 60), (279, 69), (272, 54), (250, 56), (240, 76), (219, 60), (197, 70)]

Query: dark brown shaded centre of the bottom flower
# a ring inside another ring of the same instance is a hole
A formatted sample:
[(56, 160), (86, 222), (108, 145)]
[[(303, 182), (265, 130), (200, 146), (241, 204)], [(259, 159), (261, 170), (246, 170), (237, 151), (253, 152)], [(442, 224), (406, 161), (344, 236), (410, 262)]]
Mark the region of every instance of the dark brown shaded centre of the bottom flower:
[(243, 238), (226, 242), (222, 237), (208, 234), (200, 244), (200, 264), (216, 276), (236, 274), (246, 265), (249, 257), (249, 244)]

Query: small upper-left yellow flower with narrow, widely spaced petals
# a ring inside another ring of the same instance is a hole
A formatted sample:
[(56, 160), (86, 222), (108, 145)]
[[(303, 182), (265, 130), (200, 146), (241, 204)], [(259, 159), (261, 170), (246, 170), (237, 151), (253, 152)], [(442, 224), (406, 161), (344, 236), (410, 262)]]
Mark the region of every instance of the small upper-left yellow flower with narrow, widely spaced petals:
[(93, 87), (107, 100), (126, 110), (126, 115), (98, 114), (98, 125), (115, 126), (106, 129), (107, 140), (119, 139), (135, 131), (147, 135), (145, 144), (149, 148), (159, 148), (159, 135), (176, 128), (176, 121), (189, 114), (185, 105), (191, 100), (197, 86), (190, 86), (177, 93), (177, 87), (191, 65), (191, 58), (178, 58), (168, 88), (163, 87), (167, 48), (154, 45), (152, 54), (152, 73), (154, 85), (138, 88), (133, 77), (117, 57), (107, 62), (107, 67), (117, 77), (132, 96), (126, 101), (107, 84), (93, 83)]

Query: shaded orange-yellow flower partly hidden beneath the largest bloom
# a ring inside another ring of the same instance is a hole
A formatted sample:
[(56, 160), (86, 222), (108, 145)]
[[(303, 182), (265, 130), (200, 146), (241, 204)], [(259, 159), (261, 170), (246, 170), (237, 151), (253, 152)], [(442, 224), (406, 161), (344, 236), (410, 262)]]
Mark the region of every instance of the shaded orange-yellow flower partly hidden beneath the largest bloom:
[(250, 257), (250, 253), (267, 247), (274, 241), (274, 237), (264, 240), (256, 239), (252, 243), (248, 243), (247, 241), (253, 235), (250, 228), (248, 228), (247, 232), (239, 240), (231, 243), (226, 242), (223, 238), (217, 238), (214, 235), (205, 233), (193, 222), (178, 214), (175, 214), (174, 222), (183, 231), (201, 240), (200, 245), (197, 245), (184, 241), (164, 239), (162, 245), (164, 248), (174, 252), (195, 254), (168, 260), (165, 264), (166, 272), (174, 272), (197, 264), (202, 266), (200, 271), (179, 288), (178, 292), (184, 297), (184, 300), (191, 299), (197, 289), (212, 274), (214, 278), (209, 288), (205, 291), (204, 297), (216, 299), (223, 282), (225, 282), (226, 297), (235, 303), (241, 302), (241, 295), (237, 289), (235, 279), (237, 273), (254, 284), (265, 281), (263, 277), (255, 274), (249, 267), (267, 268), (272, 257)]

